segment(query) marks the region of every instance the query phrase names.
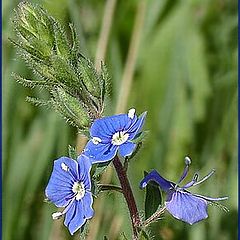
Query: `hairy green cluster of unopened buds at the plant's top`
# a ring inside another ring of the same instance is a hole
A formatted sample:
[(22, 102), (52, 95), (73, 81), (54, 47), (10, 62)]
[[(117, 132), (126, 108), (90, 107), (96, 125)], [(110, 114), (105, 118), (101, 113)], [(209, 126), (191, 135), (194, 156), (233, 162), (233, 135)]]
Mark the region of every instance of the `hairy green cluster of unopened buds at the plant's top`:
[[(109, 77), (102, 64), (98, 73), (92, 62), (80, 52), (75, 28), (70, 25), (71, 42), (63, 27), (38, 5), (22, 2), (13, 18), (17, 47), (21, 58), (40, 80), (28, 80), (13, 74), (25, 87), (40, 87), (50, 100), (28, 100), (49, 106), (68, 123), (86, 130), (104, 109)], [(84, 132), (83, 131), (83, 132)]]

